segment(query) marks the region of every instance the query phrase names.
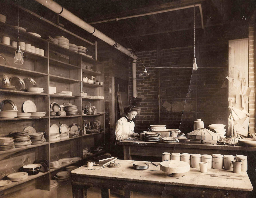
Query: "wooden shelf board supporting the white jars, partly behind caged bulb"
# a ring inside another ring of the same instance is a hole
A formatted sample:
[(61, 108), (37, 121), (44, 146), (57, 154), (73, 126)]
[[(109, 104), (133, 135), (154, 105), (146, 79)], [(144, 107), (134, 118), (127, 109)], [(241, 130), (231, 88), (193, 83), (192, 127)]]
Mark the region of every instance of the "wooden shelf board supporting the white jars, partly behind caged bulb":
[[(0, 49), (4, 53), (11, 53), (13, 54), (14, 57), (14, 52), (17, 50), (17, 48), (10, 46), (10, 45), (5, 45), (3, 43), (0, 43)], [(35, 54), (32, 52), (28, 52), (26, 50), (22, 50), (24, 52), (24, 60), (26, 59), (33, 59), (33, 60), (43, 60), (43, 59), (48, 59), (46, 56), (41, 56), (39, 54)]]

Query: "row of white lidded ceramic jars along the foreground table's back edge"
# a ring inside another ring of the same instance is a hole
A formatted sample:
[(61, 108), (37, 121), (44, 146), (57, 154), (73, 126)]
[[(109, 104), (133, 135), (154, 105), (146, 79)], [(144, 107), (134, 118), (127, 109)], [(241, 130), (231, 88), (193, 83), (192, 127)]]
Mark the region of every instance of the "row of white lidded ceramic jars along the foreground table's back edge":
[[(185, 161), (190, 164), (192, 168), (200, 168), (199, 162), (207, 162), (208, 169), (224, 169), (226, 170), (233, 170), (231, 167), (231, 160), (235, 159), (233, 155), (221, 155), (221, 154), (212, 154), (212, 155), (201, 155), (198, 153), (189, 154), (189, 153), (168, 153), (164, 152), (162, 154), (162, 161), (167, 160), (177, 160), (177, 161)], [(247, 171), (247, 156), (238, 155), (237, 160), (242, 161), (241, 171)]]

